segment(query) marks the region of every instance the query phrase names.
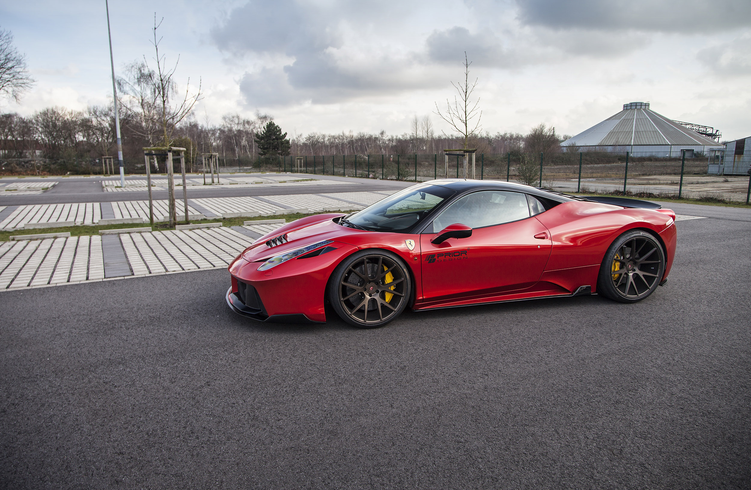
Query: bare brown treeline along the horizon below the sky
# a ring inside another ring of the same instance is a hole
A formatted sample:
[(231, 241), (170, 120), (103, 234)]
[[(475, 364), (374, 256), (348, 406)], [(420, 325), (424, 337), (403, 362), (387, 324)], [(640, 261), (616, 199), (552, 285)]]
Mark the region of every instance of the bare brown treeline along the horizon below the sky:
[[(272, 116), (256, 113), (252, 119), (237, 114), (222, 116), (219, 125), (201, 124), (189, 118), (173, 131), (172, 146), (187, 149), (189, 164), (200, 165), (201, 153), (219, 153), (222, 161), (245, 167), (258, 162), (255, 133)], [(143, 172), (143, 147), (160, 141), (158, 129), (144, 128), (139, 119), (121, 115), (122, 149), (128, 173)], [(284, 130), (284, 128), (282, 128)], [(456, 148), (459, 138), (436, 135), (430, 118), (412, 121), (409, 133), (297, 134), (289, 135), (290, 155), (432, 154)], [(554, 153), (566, 136), (544, 124), (529, 134), (488, 132), (473, 137), (470, 147), (478, 153)], [(2, 173), (101, 173), (101, 157), (116, 155), (113, 108), (91, 106), (83, 111), (48, 107), (33, 116), (0, 115), (0, 172)]]

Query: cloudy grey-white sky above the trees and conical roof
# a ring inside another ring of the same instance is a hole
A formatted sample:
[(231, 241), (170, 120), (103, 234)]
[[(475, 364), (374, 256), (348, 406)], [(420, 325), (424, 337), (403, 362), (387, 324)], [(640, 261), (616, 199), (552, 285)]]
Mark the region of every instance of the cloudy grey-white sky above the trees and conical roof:
[[(576, 134), (650, 101), (671, 119), (751, 136), (749, 0), (111, 0), (116, 72), (152, 62), (154, 15), (196, 116), (270, 113), (290, 134), (409, 131), (472, 61), (485, 131)], [(0, 0), (38, 83), (3, 112), (111, 98), (104, 0)], [(446, 129), (436, 116), (437, 129)]]

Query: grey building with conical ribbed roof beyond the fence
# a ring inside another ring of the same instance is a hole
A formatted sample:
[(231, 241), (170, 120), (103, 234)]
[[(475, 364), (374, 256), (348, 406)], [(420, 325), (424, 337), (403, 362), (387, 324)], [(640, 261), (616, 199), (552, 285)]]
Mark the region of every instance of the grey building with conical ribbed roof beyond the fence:
[(580, 151), (631, 152), (638, 156), (680, 157), (683, 150), (722, 149), (715, 140), (650, 110), (649, 102), (623, 104), (623, 110), (561, 143)]

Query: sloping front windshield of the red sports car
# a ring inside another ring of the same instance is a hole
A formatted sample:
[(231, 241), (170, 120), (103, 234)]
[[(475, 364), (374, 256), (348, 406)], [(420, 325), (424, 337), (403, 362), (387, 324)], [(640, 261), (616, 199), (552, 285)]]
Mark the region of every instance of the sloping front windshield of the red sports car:
[(439, 185), (413, 185), (349, 216), (347, 221), (369, 231), (409, 233), (452, 195), (454, 191)]

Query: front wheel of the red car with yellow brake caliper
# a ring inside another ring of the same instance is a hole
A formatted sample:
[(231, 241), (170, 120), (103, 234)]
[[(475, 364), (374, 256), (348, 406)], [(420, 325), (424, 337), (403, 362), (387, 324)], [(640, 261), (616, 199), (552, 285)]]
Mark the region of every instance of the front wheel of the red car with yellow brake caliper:
[(328, 285), (331, 306), (342, 320), (363, 329), (384, 326), (409, 302), (409, 270), (386, 250), (363, 250), (336, 266)]

